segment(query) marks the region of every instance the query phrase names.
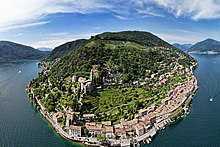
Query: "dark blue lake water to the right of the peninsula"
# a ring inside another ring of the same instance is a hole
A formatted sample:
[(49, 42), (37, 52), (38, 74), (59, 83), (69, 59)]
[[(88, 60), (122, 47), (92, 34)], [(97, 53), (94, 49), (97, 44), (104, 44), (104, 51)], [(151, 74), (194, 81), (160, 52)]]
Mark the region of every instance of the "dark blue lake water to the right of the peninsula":
[[(150, 147), (220, 147), (220, 55), (193, 55), (199, 84), (190, 114), (157, 134)], [(210, 102), (210, 97), (214, 97)]]

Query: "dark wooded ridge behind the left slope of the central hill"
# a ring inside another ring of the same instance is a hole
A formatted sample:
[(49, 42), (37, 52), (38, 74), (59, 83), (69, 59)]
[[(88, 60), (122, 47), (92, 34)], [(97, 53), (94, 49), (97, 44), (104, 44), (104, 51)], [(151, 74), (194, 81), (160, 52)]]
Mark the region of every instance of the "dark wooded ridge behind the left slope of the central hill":
[(76, 49), (81, 43), (85, 42), (86, 39), (79, 39), (71, 42), (67, 42), (62, 44), (55, 49), (52, 50), (50, 54), (48, 54), (43, 60), (44, 61), (53, 61), (57, 58), (61, 58), (71, 52), (72, 50)]

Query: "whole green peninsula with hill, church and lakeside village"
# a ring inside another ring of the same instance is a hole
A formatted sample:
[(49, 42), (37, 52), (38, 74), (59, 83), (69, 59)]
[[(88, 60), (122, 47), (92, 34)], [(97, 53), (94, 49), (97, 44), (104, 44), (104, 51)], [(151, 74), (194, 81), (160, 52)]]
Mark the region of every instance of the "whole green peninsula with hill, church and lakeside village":
[(64, 55), (54, 51), (58, 56), (40, 63), (42, 72), (27, 86), (64, 138), (90, 146), (150, 143), (189, 113), (197, 62), (157, 36), (107, 32), (68, 44)]

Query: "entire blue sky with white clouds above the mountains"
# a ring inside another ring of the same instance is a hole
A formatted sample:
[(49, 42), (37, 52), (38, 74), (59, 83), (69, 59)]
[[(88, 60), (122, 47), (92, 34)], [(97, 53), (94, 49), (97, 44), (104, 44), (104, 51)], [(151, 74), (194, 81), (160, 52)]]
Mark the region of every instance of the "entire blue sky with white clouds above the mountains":
[(125, 30), (171, 44), (220, 40), (220, 0), (0, 0), (0, 40), (54, 48)]

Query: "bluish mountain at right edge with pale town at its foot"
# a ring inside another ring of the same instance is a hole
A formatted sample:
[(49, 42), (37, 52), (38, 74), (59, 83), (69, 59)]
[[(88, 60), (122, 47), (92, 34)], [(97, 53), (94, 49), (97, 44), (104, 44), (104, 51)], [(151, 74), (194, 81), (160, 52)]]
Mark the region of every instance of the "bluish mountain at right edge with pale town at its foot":
[(194, 54), (219, 54), (220, 41), (206, 39), (193, 45), (187, 52)]

